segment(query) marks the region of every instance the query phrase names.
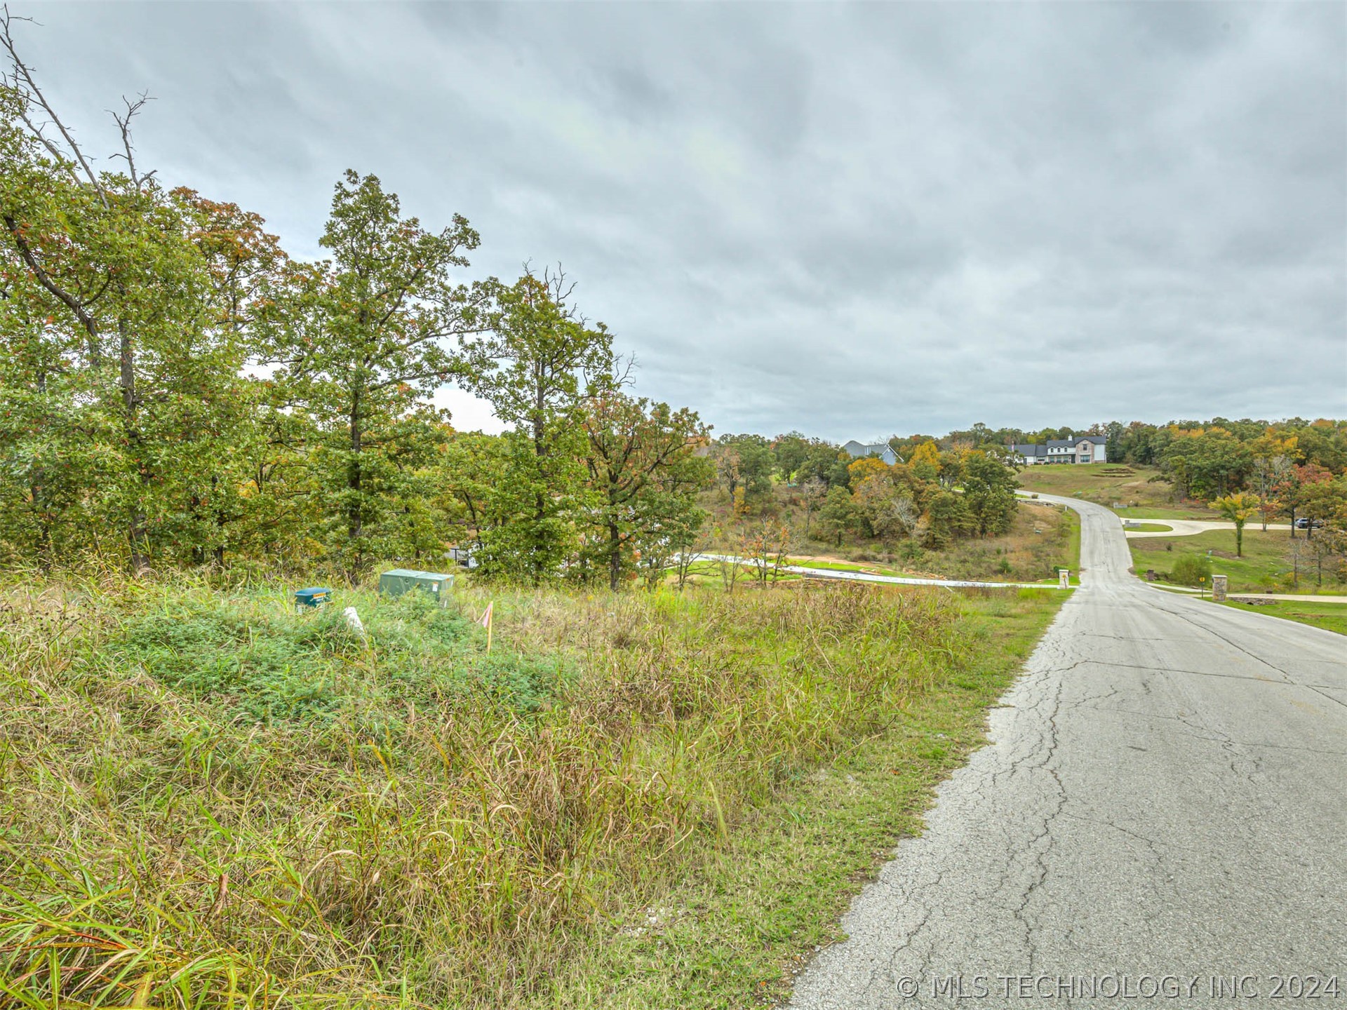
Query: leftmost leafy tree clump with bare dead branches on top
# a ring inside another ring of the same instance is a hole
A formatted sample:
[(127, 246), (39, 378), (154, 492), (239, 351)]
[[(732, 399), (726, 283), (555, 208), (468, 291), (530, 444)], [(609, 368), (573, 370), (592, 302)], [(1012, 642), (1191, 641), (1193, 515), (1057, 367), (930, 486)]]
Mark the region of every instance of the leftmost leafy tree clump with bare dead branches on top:
[(4, 381), (27, 424), (0, 446), (8, 489), (22, 489), (39, 553), (58, 529), (110, 524), (143, 571), (176, 548), (194, 475), (218, 471), (230, 450), (245, 350), (218, 311), (199, 209), (136, 163), (131, 129), (145, 98), (113, 113), (119, 170), (94, 171), (19, 58), (12, 24), (0, 16), (12, 61), (0, 89), (0, 236), (16, 308)]

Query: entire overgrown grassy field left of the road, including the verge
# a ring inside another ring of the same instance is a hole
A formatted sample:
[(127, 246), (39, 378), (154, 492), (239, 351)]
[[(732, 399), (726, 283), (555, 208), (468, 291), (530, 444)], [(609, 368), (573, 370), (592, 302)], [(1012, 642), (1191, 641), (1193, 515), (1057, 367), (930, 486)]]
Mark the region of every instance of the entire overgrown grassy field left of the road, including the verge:
[(11, 583), (0, 1002), (780, 994), (1061, 598)]

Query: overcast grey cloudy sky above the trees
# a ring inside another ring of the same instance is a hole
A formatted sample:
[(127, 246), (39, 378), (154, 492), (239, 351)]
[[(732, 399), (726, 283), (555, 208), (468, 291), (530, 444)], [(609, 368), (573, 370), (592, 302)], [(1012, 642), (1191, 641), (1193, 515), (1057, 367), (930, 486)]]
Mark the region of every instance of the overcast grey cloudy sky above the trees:
[(11, 9), (90, 149), (299, 256), (373, 172), (721, 432), (1347, 416), (1347, 4)]

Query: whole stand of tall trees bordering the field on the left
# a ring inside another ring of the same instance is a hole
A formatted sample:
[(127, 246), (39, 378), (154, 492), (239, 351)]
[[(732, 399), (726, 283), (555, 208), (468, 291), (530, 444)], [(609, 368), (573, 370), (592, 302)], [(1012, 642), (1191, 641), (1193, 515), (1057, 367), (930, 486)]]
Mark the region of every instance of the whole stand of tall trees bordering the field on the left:
[[(707, 426), (637, 397), (558, 268), (470, 279), (480, 236), (348, 171), (291, 257), (257, 214), (94, 160), (0, 42), (0, 556), (133, 571), (376, 559), (617, 587), (695, 535)], [(454, 382), (508, 426), (455, 431)]]

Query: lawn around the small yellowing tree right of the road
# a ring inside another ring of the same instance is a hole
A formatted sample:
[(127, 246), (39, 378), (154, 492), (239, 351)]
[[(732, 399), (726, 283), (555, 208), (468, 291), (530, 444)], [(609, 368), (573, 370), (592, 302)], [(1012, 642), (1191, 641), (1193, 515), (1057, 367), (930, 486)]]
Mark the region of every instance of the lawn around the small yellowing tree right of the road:
[[(1292, 545), (1301, 548), (1299, 586), (1292, 586), (1290, 576), (1296, 567), (1290, 556)], [(1347, 587), (1324, 572), (1324, 584), (1316, 586), (1315, 563), (1305, 548), (1304, 535), (1292, 541), (1285, 529), (1268, 531), (1245, 529), (1243, 558), (1235, 556), (1235, 531), (1212, 529), (1196, 536), (1175, 537), (1133, 537), (1127, 540), (1131, 548), (1133, 567), (1138, 575), (1146, 570), (1168, 572), (1175, 562), (1185, 553), (1211, 556), (1212, 572), (1230, 578), (1231, 593), (1259, 593), (1294, 588), (1297, 593), (1347, 593)]]

